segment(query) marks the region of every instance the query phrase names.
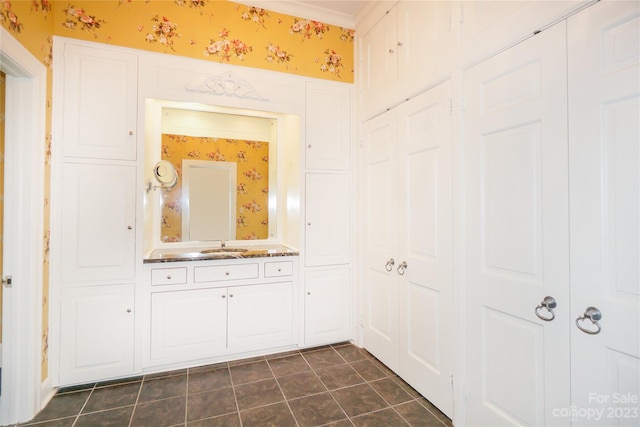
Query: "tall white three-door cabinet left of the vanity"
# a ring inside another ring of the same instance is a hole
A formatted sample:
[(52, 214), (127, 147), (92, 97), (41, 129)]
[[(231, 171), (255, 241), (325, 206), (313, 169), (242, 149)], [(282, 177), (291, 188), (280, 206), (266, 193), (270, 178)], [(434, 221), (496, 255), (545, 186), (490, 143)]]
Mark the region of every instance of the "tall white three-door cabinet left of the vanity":
[(59, 383), (73, 384), (134, 371), (137, 57), (73, 44), (56, 50), (64, 61), (54, 77), (54, 360)]

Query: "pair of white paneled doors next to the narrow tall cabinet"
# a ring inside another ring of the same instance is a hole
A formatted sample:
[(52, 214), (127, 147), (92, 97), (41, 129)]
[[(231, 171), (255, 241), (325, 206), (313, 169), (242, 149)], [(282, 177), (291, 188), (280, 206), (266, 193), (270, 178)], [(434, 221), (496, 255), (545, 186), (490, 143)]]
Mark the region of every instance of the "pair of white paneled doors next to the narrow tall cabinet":
[(453, 415), (450, 82), (364, 125), (364, 346)]

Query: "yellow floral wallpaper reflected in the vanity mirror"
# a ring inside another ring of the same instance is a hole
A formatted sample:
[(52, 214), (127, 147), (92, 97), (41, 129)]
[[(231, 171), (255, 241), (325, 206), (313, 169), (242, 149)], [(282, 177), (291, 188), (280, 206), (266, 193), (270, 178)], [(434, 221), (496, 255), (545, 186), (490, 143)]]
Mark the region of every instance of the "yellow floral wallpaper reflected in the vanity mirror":
[(162, 135), (162, 160), (173, 163), (178, 183), (162, 193), (161, 235), (182, 241), (182, 159), (235, 162), (236, 239), (269, 237), (269, 143), (212, 137)]

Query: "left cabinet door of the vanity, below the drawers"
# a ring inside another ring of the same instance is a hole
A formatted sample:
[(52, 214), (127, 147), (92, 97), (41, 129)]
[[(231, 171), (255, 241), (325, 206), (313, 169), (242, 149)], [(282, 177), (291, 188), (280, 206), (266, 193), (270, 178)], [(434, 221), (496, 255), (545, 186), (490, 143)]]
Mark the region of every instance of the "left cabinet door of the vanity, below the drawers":
[(226, 288), (151, 294), (152, 363), (213, 357), (226, 348)]

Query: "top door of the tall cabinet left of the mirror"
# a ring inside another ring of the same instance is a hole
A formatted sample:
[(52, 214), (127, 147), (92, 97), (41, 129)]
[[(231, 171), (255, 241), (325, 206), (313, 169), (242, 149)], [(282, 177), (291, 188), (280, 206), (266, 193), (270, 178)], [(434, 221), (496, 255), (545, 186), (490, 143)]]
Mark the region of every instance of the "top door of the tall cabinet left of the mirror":
[(136, 159), (137, 57), (65, 45), (63, 152)]

